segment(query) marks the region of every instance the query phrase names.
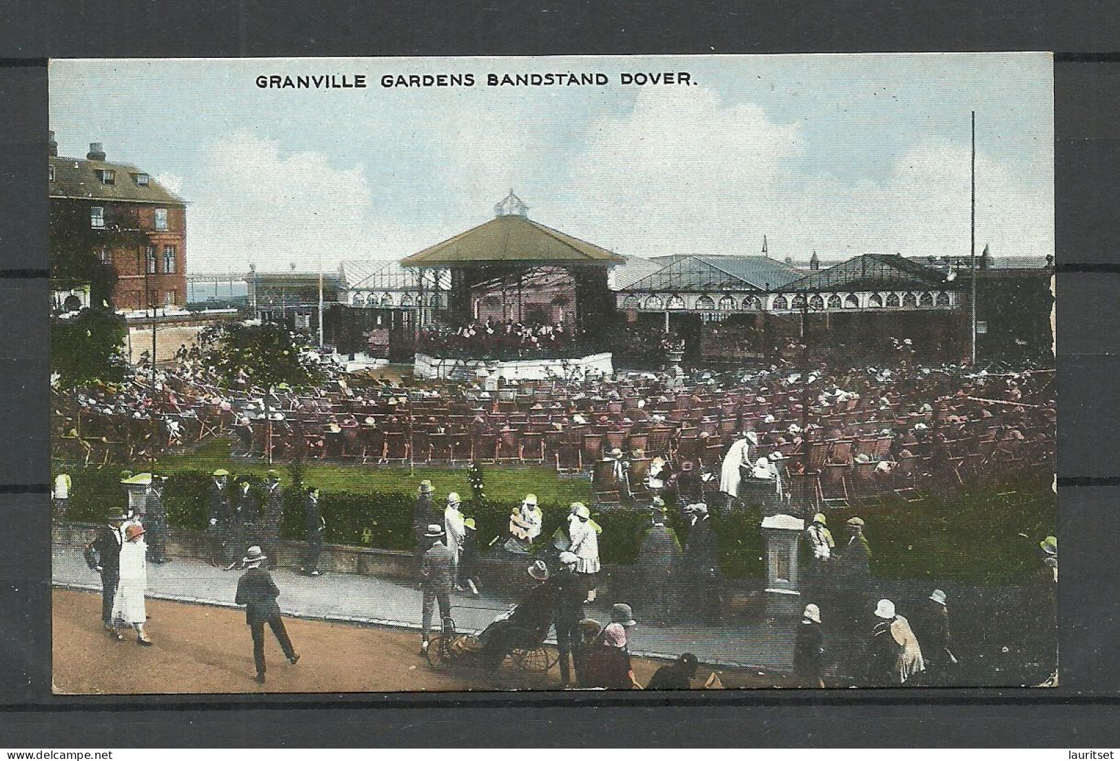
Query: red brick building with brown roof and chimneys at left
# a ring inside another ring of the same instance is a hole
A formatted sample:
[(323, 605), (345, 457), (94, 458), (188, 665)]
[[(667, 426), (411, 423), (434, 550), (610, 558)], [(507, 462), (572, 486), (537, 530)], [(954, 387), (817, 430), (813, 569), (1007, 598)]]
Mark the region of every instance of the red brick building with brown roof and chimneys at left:
[(58, 156), (50, 133), (47, 180), (52, 205), (69, 204), (88, 214), (90, 226), (138, 225), (150, 243), (105, 248), (102, 261), (116, 272), (113, 307), (119, 310), (183, 306), (187, 301), (187, 206), (147, 171), (109, 161), (100, 142), (84, 159)]

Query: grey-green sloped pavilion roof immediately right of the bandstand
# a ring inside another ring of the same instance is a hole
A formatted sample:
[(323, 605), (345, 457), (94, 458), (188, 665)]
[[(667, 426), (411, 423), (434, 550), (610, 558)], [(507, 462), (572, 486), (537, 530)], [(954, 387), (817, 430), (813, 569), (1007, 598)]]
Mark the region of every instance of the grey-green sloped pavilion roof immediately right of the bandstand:
[(768, 257), (681, 257), (619, 290), (766, 290), (767, 286), (784, 288), (801, 275), (801, 270)]

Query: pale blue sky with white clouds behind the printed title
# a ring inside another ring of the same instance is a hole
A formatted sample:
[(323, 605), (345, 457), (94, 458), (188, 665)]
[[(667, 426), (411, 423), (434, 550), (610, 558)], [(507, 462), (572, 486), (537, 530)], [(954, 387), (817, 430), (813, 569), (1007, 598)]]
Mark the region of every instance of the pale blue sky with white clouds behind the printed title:
[[(607, 85), (487, 86), (488, 73)], [(620, 74), (688, 72), (689, 85)], [(384, 87), (467, 74), (473, 87)], [(258, 76), (364, 74), (365, 89)], [(187, 202), (188, 272), (400, 259), (494, 215), (624, 256), (1054, 249), (1049, 54), (53, 61), (59, 155), (103, 142)]]

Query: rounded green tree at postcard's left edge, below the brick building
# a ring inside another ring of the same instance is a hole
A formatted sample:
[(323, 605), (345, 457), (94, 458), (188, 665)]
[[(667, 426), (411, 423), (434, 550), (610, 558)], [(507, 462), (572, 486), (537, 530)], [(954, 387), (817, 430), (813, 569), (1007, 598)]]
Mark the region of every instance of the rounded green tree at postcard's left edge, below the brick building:
[(127, 333), (124, 318), (108, 309), (82, 309), (52, 319), (50, 372), (58, 373), (58, 386), (72, 389), (124, 380), (128, 362), (121, 346)]

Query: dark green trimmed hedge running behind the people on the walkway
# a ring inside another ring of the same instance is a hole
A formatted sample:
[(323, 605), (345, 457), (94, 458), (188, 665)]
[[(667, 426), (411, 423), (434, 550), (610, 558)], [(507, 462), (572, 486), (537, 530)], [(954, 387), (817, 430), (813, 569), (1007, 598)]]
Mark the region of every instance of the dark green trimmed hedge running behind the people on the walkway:
[[(120, 474), (114, 471), (78, 468), (71, 472), (73, 489), (69, 519), (101, 521), (111, 508), (125, 504)], [(263, 479), (251, 476), (258, 502), (263, 503)], [(203, 529), (209, 511), (209, 474), (178, 471), (168, 475), (164, 505), (172, 526)], [(289, 466), (283, 473), (284, 505), (281, 533), (287, 539), (302, 539), (304, 505), (299, 484), (302, 473)], [(410, 550), (412, 533), (411, 492), (352, 491), (320, 492), (320, 507), (327, 521), (326, 539), (333, 544)], [(488, 500), (468, 500), (464, 514), (478, 526), (478, 544), (486, 551), (496, 537), (500, 546), (508, 536), (513, 505)], [(543, 530), (538, 546), (567, 523), (568, 505), (541, 505)], [(884, 502), (878, 505), (831, 510), (829, 526), (837, 544), (847, 542), (844, 521), (860, 516), (874, 553), (872, 573), (887, 578), (928, 578), (971, 581), (981, 584), (1016, 583), (1029, 578), (1037, 566), (1038, 541), (1054, 532), (1056, 500), (1052, 492), (1012, 494), (960, 494), (950, 499), (927, 498), (923, 502)], [(720, 567), (729, 578), (764, 575), (763, 538), (758, 530), (762, 508), (752, 507), (731, 514), (712, 514), (718, 537)], [(600, 558), (606, 564), (628, 565), (637, 560), (642, 537), (648, 527), (648, 512), (642, 509), (608, 510), (595, 516), (603, 527)], [(683, 545), (688, 525), (670, 505), (669, 526)], [(1028, 539), (1019, 537), (1025, 533)]]

